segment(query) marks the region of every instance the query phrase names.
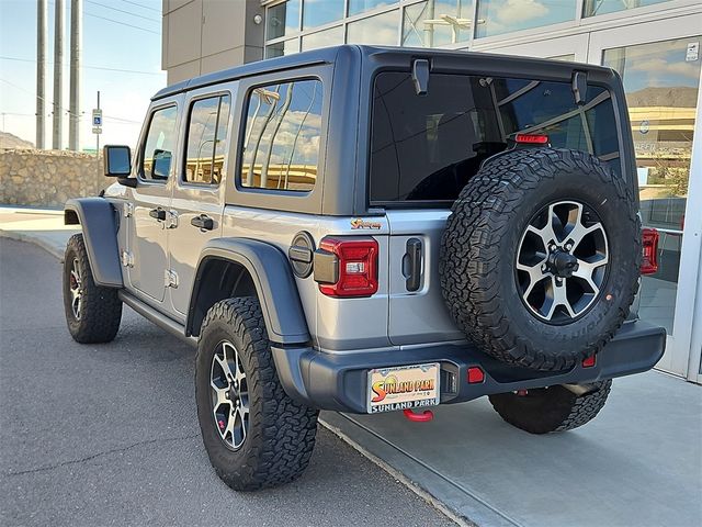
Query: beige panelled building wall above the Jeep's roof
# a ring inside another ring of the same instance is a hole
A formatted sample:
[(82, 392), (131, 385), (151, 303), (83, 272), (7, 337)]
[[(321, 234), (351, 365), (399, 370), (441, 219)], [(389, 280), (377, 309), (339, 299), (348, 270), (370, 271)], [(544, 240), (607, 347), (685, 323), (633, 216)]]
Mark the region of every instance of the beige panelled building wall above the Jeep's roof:
[(263, 57), (259, 0), (163, 0), (161, 68), (172, 85)]

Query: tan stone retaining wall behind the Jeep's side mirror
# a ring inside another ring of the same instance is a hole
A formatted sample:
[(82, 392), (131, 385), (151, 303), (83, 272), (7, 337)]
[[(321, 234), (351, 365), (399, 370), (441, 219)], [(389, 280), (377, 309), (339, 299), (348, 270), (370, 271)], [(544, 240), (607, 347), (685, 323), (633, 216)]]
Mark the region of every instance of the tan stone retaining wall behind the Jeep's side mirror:
[(61, 208), (110, 184), (102, 158), (66, 150), (0, 150), (0, 203)]

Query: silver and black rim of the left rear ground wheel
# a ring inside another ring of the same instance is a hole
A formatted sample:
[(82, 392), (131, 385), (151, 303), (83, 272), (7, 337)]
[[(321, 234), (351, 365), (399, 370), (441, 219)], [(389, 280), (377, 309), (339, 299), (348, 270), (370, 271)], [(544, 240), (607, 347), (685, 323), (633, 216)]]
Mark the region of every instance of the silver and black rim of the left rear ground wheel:
[(229, 341), (219, 343), (213, 355), (210, 386), (219, 437), (228, 448), (237, 450), (244, 445), (249, 426), (249, 391), (239, 354)]

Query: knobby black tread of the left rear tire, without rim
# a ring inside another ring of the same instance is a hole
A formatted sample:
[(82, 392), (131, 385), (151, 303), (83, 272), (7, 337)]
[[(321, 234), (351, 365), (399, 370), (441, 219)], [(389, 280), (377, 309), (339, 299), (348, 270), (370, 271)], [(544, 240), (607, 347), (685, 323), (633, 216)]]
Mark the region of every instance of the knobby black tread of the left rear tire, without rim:
[[(246, 441), (252, 447), (253, 455), (241, 472), (215, 464), (211, 456), (213, 467), (217, 475), (237, 491), (290, 483), (299, 478), (309, 464), (318, 411), (294, 401), (283, 390), (258, 299), (234, 298), (217, 302), (203, 321), (201, 338), (215, 321), (230, 326), (246, 345), (239, 354), (249, 354), (256, 363), (256, 371), (247, 371), (249, 407), (256, 406), (256, 400), (262, 400), (262, 410), (249, 414), (249, 429), (252, 419), (260, 419), (263, 426), (262, 433), (247, 435)], [(204, 352), (204, 349), (199, 347), (197, 352)], [(199, 407), (197, 412), (203, 410)]]

